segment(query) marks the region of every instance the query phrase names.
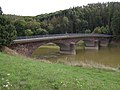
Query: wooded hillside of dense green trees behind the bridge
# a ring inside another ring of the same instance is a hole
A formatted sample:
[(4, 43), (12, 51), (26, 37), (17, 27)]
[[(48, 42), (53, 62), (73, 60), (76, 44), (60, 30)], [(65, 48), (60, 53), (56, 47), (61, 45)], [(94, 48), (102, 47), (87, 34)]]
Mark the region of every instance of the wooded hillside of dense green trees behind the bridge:
[(95, 3), (35, 17), (4, 15), (17, 36), (100, 33), (120, 38), (120, 2)]

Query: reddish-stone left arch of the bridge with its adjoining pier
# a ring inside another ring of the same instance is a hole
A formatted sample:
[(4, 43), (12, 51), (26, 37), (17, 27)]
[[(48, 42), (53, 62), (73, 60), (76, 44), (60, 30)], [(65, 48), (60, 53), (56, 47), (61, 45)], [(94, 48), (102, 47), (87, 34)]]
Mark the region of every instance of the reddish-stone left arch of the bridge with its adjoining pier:
[[(15, 50), (21, 55), (25, 55), (28, 57), (31, 57), (32, 53), (40, 46), (45, 45), (47, 43), (54, 43), (57, 46), (59, 46), (59, 52), (60, 53), (66, 53), (66, 54), (74, 54), (75, 53), (75, 47), (73, 43), (65, 43), (65, 42), (59, 42), (59, 41), (43, 41), (43, 42), (30, 42), (30, 43), (19, 43), (19, 44), (13, 44), (9, 46), (11, 49)], [(70, 52), (71, 51), (71, 52)], [(73, 52), (74, 51), (74, 52)]]

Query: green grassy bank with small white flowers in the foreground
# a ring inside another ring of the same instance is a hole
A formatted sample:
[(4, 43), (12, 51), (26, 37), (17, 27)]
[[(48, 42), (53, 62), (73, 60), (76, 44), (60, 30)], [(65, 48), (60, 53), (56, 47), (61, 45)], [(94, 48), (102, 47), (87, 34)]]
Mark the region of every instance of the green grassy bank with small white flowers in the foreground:
[(120, 72), (0, 53), (0, 90), (120, 90)]

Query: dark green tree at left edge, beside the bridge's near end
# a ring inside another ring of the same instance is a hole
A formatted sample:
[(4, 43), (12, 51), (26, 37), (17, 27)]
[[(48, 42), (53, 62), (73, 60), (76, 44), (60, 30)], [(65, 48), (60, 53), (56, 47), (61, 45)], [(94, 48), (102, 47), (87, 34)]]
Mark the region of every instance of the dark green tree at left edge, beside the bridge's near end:
[(4, 15), (0, 8), (0, 48), (12, 43), (16, 36), (16, 30), (13, 24)]

